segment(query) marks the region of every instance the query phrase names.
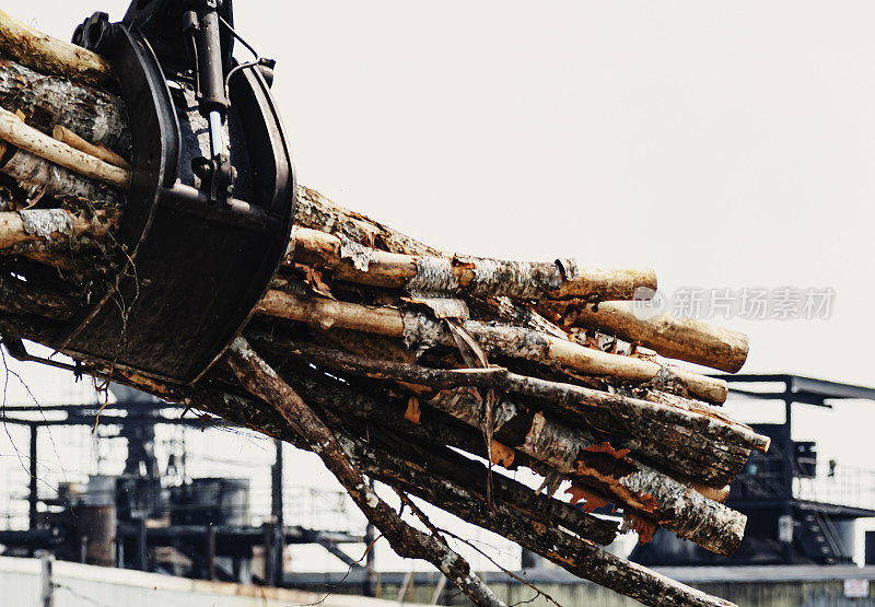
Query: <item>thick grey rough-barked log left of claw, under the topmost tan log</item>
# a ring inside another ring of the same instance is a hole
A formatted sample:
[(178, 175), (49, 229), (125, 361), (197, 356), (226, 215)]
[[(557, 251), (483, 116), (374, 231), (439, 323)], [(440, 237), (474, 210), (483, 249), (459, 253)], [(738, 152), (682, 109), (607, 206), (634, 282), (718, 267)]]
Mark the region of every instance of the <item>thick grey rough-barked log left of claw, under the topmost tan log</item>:
[(38, 73), (0, 57), (0, 106), (22, 112), (28, 125), (46, 135), (60, 125), (95, 145), (130, 155), (124, 102), (92, 86)]

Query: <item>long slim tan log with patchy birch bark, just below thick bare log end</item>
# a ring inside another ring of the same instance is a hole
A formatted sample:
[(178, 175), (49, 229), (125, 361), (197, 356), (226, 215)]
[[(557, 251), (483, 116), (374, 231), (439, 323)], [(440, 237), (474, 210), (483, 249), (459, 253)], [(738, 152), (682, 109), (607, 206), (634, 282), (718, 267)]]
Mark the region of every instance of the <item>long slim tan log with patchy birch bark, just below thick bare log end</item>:
[[(439, 322), (422, 314), (402, 313), (388, 306), (365, 306), (271, 290), (259, 302), (256, 312), (275, 318), (314, 324), (325, 329), (338, 327), (401, 337), (418, 345), (429, 345), (430, 341), (432, 345), (455, 345), (452, 335)], [(609, 375), (620, 381), (642, 383), (654, 380), (664, 369), (652, 361), (610, 354), (520, 327), (477, 320), (468, 320), (464, 326), (486, 350), (536, 362), (567, 365), (591, 375)], [(681, 380), (690, 394), (698, 398), (715, 404), (726, 400), (728, 388), (722, 380), (676, 367), (672, 367), (670, 373)]]

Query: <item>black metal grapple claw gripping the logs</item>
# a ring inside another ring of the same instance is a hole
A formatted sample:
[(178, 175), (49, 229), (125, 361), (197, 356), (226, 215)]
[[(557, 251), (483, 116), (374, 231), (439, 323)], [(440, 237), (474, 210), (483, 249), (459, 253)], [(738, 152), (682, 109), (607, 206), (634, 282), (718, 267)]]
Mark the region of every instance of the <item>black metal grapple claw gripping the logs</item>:
[[(288, 137), (261, 70), (237, 70), (226, 110), (203, 112), (202, 68), (183, 27), (192, 8), (233, 23), (230, 0), (135, 0), (120, 23), (95, 13), (77, 28), (74, 43), (113, 63), (135, 117), (131, 183), (116, 234), (119, 288), (91, 297), (58, 345), (179, 384), (200, 378), (248, 320), (285, 254), (295, 203)], [(220, 40), (226, 75), (233, 37)]]

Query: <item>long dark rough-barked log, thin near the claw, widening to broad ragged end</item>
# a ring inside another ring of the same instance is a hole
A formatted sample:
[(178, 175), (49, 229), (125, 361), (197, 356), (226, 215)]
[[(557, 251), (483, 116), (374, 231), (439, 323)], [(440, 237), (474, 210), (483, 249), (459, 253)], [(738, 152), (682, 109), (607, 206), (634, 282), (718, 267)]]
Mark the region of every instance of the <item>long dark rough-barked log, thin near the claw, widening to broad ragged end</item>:
[[(750, 448), (765, 451), (769, 439), (750, 428), (690, 415), (682, 409), (646, 400), (510, 373), (506, 369), (430, 369), (370, 359), (277, 336), (250, 336), (259, 347), (334, 371), (415, 384), (434, 389), (476, 387), (537, 399), (526, 409), (555, 412), (575, 427), (583, 425), (616, 448), (628, 448), (654, 468), (721, 489), (744, 466)], [(622, 428), (622, 434), (611, 432)]]

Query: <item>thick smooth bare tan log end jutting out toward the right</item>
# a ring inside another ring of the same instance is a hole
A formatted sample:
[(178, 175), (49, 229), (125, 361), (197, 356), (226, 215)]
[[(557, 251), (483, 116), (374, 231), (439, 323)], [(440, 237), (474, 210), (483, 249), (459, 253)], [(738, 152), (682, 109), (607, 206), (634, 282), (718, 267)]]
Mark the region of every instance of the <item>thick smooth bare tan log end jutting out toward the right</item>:
[(726, 373), (736, 373), (747, 360), (747, 336), (742, 332), (669, 314), (639, 318), (632, 303), (606, 302), (594, 307), (572, 300), (541, 302), (538, 310), (559, 324), (596, 329), (641, 343), (664, 357)]

